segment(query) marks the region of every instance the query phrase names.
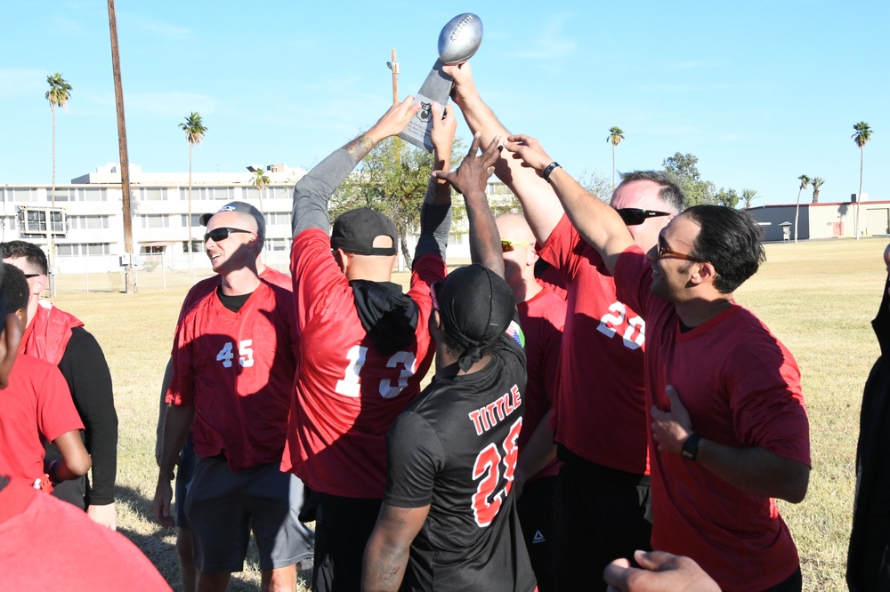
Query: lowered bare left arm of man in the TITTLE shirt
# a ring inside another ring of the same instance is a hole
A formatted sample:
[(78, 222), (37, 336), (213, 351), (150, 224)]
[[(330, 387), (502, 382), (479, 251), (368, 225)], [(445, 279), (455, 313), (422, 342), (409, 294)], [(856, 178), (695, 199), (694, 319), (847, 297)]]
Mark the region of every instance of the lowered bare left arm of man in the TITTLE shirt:
[(405, 577), (411, 542), (426, 522), (430, 507), (397, 508), (384, 503), (361, 564), (363, 592), (398, 590)]

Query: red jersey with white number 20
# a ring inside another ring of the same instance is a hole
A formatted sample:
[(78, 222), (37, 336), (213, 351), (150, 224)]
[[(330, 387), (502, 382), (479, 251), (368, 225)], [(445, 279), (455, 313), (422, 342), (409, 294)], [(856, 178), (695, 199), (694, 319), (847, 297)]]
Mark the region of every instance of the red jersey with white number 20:
[(538, 254), (560, 269), (568, 289), (556, 442), (605, 467), (648, 473), (643, 319), (619, 302), (600, 254), (565, 215)]

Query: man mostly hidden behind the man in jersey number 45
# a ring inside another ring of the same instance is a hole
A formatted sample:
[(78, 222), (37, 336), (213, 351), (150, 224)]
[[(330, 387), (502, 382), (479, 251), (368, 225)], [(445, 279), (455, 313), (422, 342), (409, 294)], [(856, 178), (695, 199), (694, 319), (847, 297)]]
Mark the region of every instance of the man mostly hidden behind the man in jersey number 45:
[[(243, 204), (242, 207), (247, 206), (243, 202), (233, 202), (232, 204)], [(231, 209), (232, 204), (223, 205), (223, 208), (219, 210), (219, 212), (225, 212), (227, 209)], [(206, 226), (207, 223), (213, 218), (213, 213), (206, 213), (200, 217), (200, 222), (203, 226)], [(258, 223), (261, 224), (263, 228), (265, 228), (265, 218), (263, 217), (260, 220), (257, 220)], [(265, 234), (263, 232), (263, 234)], [(257, 275), (260, 276), (260, 279), (269, 282), (270, 284), (275, 284), (287, 290), (291, 289), (291, 281), (290, 276), (287, 274), (283, 274), (277, 269), (273, 269), (267, 267), (263, 263), (262, 255), (258, 255), (256, 257), (256, 272)], [(179, 331), (179, 325), (182, 323), (182, 319), (185, 314), (189, 311), (189, 309), (194, 306), (196, 302), (206, 297), (207, 294), (214, 292), (219, 284), (219, 278), (214, 274), (214, 276), (206, 277), (205, 279), (198, 282), (191, 287), (189, 293), (185, 295), (185, 300), (182, 300), (182, 308), (179, 311), (179, 319), (176, 321), (176, 332)], [(175, 334), (175, 332), (174, 332)], [(161, 463), (161, 445), (164, 442), (164, 418), (166, 417), (166, 394), (167, 389), (170, 388), (170, 380), (173, 378), (173, 356), (167, 361), (166, 369), (164, 371), (164, 378), (161, 380), (161, 399), (160, 406), (158, 408), (158, 428), (157, 428), (157, 440), (155, 444), (155, 459), (158, 461), (158, 467), (160, 467)], [(182, 580), (182, 591), (183, 592), (194, 592), (196, 580), (198, 576), (198, 572), (195, 569), (195, 561), (194, 561), (194, 550), (192, 547), (191, 540), (191, 529), (189, 528), (189, 522), (185, 517), (185, 494), (186, 494), (186, 485), (189, 484), (191, 479), (191, 468), (194, 463), (194, 454), (195, 454), (195, 446), (189, 437), (186, 440), (185, 445), (182, 447), (182, 452), (180, 452), (179, 460), (177, 461), (177, 470), (176, 470), (176, 485), (175, 485), (175, 500), (176, 500), (176, 553), (179, 556), (179, 568), (180, 568), (180, 577)], [(303, 565), (303, 568), (306, 566)]]

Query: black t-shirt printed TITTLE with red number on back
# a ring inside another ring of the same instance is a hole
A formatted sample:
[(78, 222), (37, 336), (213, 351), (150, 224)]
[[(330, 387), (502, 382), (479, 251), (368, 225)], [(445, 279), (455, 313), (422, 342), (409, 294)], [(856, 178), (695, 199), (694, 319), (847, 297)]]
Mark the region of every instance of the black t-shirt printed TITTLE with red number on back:
[(535, 588), (510, 494), (525, 382), (525, 353), (504, 336), (481, 371), (433, 380), (393, 424), (384, 500), (430, 505), (406, 588)]

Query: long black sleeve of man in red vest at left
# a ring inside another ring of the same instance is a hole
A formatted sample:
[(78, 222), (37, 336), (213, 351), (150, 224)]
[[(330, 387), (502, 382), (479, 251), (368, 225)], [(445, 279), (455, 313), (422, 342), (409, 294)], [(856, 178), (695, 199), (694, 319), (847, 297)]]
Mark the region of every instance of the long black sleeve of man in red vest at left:
[(84, 422), (86, 450), (93, 457), (93, 483), (87, 488), (86, 503), (112, 503), (117, 476), (117, 412), (111, 372), (99, 343), (83, 327), (71, 330), (59, 370)]

